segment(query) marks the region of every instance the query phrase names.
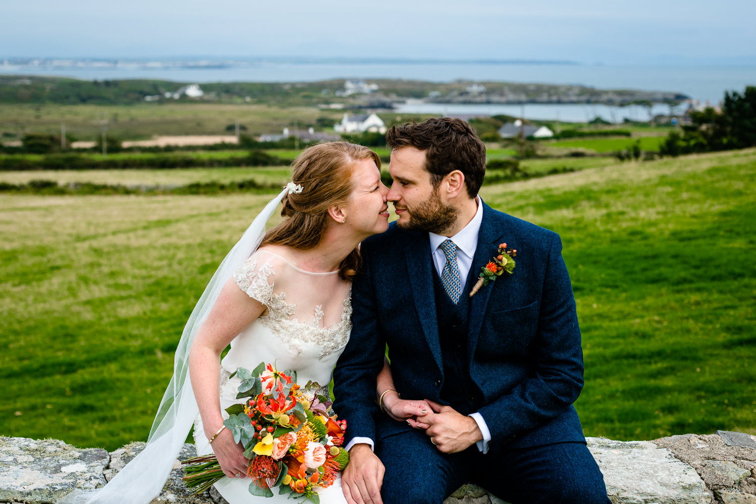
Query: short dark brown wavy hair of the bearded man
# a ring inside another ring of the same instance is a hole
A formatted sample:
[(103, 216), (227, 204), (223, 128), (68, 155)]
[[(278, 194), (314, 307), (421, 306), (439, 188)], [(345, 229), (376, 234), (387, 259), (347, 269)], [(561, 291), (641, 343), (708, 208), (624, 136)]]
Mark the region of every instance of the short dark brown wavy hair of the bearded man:
[(393, 149), (415, 147), (426, 154), (424, 168), (433, 187), (454, 170), (465, 176), (471, 198), (478, 195), (485, 176), (485, 144), (475, 129), (457, 117), (434, 117), (423, 122), (393, 125), (386, 131), (386, 144)]

